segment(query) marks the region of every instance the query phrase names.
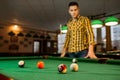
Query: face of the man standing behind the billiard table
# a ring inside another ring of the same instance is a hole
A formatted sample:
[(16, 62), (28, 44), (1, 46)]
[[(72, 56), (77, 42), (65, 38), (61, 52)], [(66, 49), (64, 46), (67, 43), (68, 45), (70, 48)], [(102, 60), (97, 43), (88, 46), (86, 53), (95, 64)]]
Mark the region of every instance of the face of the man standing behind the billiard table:
[(69, 14), (71, 15), (72, 18), (76, 18), (79, 15), (79, 8), (78, 6), (70, 6), (69, 7)]

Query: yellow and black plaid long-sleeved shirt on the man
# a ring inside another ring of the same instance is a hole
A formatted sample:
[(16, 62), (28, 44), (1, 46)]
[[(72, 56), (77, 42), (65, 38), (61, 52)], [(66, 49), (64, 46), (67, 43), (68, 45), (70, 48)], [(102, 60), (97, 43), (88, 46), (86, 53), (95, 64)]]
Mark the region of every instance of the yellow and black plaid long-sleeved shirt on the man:
[(95, 43), (91, 23), (87, 17), (78, 16), (75, 20), (70, 19), (67, 27), (64, 48), (67, 48), (68, 52), (82, 51)]

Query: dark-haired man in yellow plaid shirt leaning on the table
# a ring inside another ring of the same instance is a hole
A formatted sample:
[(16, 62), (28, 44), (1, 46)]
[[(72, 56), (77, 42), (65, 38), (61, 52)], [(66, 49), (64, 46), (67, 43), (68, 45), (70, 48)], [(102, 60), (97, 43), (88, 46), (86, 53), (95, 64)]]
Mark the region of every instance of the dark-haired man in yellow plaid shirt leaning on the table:
[(67, 23), (68, 31), (61, 57), (68, 52), (72, 58), (97, 58), (94, 54), (94, 34), (89, 19), (79, 15), (78, 3), (70, 2), (68, 8), (72, 19)]

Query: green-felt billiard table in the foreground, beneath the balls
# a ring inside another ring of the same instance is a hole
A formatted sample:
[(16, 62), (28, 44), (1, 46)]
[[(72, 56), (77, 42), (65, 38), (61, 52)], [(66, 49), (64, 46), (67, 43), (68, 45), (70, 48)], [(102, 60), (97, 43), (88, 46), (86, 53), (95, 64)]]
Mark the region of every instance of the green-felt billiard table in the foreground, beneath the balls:
[[(18, 61), (24, 60), (25, 67), (19, 68)], [(72, 58), (43, 57), (0, 57), (0, 74), (7, 80), (120, 80), (120, 60), (77, 59), (78, 72), (70, 71)], [(44, 69), (38, 69), (38, 61), (44, 61)], [(59, 64), (66, 64), (67, 73), (58, 72)], [(1, 75), (0, 75), (1, 76)], [(2, 77), (0, 77), (2, 80)]]

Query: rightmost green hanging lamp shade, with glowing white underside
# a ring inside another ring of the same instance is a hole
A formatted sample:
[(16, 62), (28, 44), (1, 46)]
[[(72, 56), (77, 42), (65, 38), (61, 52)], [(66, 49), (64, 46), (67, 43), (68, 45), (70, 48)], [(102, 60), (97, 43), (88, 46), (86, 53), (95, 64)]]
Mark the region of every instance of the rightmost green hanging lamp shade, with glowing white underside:
[(118, 19), (114, 16), (111, 16), (111, 17), (107, 17), (105, 19), (105, 25), (106, 26), (113, 26), (113, 25), (117, 25), (118, 24)]

